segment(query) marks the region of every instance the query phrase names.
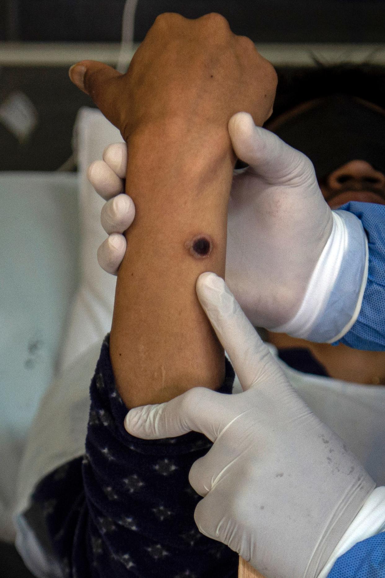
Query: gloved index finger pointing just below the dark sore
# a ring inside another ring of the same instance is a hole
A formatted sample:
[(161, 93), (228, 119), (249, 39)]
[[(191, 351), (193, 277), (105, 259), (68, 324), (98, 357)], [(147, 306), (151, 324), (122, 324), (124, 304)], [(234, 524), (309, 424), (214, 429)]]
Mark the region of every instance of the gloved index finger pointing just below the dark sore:
[(197, 280), (197, 295), (243, 390), (262, 379), (275, 379), (279, 366), (224, 280), (215, 273), (202, 273)]

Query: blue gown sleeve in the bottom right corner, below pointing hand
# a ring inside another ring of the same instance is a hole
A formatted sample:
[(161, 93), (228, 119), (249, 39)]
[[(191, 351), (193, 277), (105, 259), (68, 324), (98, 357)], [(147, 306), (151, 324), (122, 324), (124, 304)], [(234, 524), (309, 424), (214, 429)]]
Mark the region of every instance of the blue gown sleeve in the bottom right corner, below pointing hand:
[(328, 578), (385, 578), (385, 532), (358, 542), (337, 558)]

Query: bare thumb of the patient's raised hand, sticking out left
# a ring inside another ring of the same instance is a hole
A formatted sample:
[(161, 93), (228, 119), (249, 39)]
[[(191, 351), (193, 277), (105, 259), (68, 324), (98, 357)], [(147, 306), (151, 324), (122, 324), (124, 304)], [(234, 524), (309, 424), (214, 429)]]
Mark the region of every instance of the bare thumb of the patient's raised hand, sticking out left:
[(119, 80), (123, 76), (111, 66), (94, 60), (82, 60), (71, 66), (69, 77), (77, 88), (92, 98), (98, 109), (119, 128), (114, 101), (120, 92)]

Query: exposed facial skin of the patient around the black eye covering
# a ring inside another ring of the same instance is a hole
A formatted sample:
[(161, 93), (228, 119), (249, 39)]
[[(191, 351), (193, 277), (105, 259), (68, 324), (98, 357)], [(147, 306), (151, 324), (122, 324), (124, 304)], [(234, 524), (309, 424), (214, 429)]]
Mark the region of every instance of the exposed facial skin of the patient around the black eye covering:
[[(297, 114), (311, 109), (320, 103), (322, 99), (304, 102), (301, 105), (281, 114), (266, 128), (275, 132), (286, 120), (294, 118)], [(377, 110), (385, 115), (385, 110), (371, 102), (360, 102), (368, 108)], [(325, 200), (332, 209), (336, 209), (349, 201), (361, 201), (367, 203), (379, 203), (385, 205), (385, 175), (377, 171), (367, 161), (352, 158), (351, 161), (339, 166), (322, 181), (319, 182)]]

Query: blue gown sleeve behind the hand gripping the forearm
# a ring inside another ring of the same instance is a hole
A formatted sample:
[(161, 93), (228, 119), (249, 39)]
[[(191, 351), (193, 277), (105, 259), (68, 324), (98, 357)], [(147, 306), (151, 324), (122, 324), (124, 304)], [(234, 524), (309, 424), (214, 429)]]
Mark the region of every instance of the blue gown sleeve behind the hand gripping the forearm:
[(357, 321), (342, 339), (353, 349), (385, 350), (385, 205), (351, 201), (340, 209), (358, 217), (369, 246), (368, 281)]

